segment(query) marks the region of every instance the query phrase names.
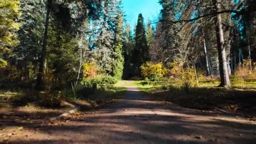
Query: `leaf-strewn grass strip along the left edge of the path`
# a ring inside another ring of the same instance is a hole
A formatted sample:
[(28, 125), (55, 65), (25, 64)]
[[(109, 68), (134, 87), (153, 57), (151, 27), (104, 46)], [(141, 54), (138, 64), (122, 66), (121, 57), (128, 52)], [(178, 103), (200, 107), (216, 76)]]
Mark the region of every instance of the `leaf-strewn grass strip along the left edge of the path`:
[[(37, 91), (10, 91), (0, 90), (0, 115), (44, 115), (42, 117), (52, 117), (66, 112), (75, 107), (82, 109), (97, 107), (99, 105), (109, 104), (109, 101), (115, 101), (124, 96), (126, 88), (113, 85), (107, 88), (99, 88), (92, 95), (84, 93), (83, 96), (65, 97), (60, 93), (47, 93)], [(58, 103), (58, 104), (57, 104)], [(47, 114), (49, 113), (49, 114)]]

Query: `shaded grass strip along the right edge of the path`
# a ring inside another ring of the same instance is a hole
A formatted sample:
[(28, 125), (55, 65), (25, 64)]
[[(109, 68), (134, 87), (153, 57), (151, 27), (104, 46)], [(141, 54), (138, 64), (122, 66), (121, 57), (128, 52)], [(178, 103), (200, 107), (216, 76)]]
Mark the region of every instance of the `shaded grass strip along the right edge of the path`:
[(140, 88), (157, 101), (169, 101), (181, 107), (201, 110), (215, 110), (215, 107), (229, 112), (256, 116), (256, 90), (232, 88), (191, 88), (183, 91), (177, 86), (157, 86)]

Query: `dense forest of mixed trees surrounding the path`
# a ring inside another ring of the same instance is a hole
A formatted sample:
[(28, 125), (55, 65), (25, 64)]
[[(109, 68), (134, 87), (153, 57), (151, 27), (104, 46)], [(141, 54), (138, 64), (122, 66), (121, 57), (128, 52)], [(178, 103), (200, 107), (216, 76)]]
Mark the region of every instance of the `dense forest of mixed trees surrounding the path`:
[(55, 90), (85, 78), (152, 79), (143, 71), (149, 64), (165, 71), (152, 72), (160, 75), (154, 80), (181, 77), (173, 64), (217, 77), (225, 88), (241, 69), (243, 79), (256, 77), (255, 1), (159, 4), (156, 21), (140, 13), (132, 29), (122, 0), (1, 1), (1, 81)]

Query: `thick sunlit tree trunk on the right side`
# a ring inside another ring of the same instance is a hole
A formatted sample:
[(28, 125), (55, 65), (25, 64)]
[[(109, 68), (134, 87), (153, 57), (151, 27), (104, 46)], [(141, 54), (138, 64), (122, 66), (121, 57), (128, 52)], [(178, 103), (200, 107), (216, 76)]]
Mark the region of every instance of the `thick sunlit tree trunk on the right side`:
[[(216, 11), (221, 11), (220, 0), (214, 0)], [(226, 51), (223, 46), (224, 44), (224, 35), (221, 23), (221, 14), (216, 14), (215, 18), (216, 24), (216, 39), (217, 39), (217, 46), (218, 46), (218, 55), (219, 55), (219, 73), (221, 78), (220, 87), (230, 88), (229, 82), (229, 73), (227, 69), (227, 59), (226, 59)]]

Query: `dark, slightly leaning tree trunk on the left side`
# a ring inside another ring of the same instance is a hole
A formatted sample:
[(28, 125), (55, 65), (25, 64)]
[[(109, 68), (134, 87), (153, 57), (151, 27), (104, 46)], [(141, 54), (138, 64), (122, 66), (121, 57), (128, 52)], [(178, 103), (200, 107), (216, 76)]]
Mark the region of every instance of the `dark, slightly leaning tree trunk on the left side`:
[(44, 81), (43, 81), (43, 75), (44, 75), (44, 62), (45, 62), (45, 56), (46, 56), (46, 46), (47, 46), (47, 33), (48, 33), (48, 25), (49, 25), (49, 17), (50, 17), (50, 5), (51, 0), (48, 0), (47, 2), (47, 13), (46, 13), (46, 21), (45, 21), (45, 33), (43, 37), (43, 47), (41, 51), (41, 56), (39, 60), (39, 71), (37, 74), (37, 89), (43, 90), (44, 89)]

